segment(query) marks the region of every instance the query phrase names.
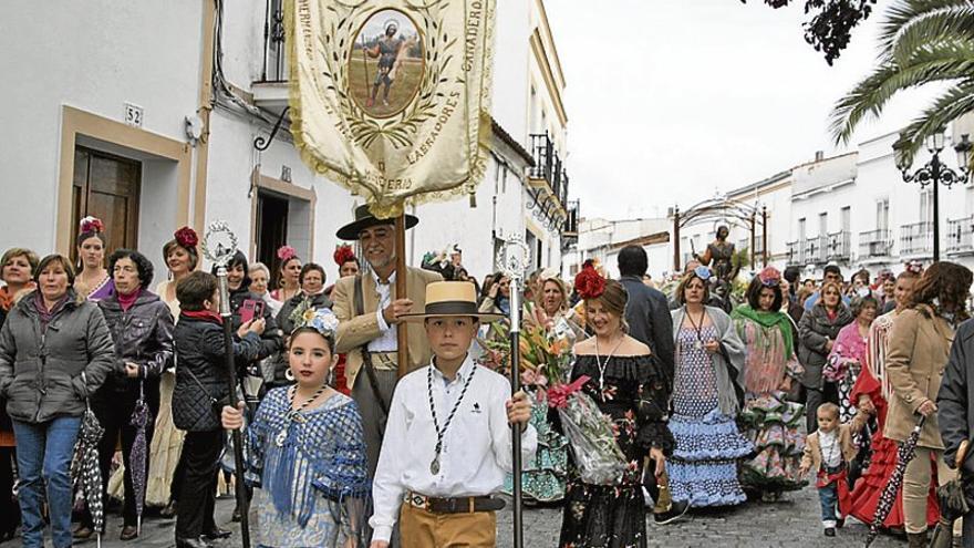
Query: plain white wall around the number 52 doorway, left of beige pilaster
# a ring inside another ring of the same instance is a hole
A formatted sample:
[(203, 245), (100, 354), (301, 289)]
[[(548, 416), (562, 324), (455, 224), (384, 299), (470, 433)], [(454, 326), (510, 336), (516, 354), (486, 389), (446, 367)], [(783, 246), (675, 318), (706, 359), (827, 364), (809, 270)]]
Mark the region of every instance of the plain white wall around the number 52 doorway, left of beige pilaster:
[(54, 0), (4, 11), (0, 102), (10, 138), (0, 147), (0, 190), (15, 188), (17, 199), (0, 203), (0, 247), (53, 250), (62, 105), (121, 121), (132, 102), (145, 108), (146, 131), (185, 141), (199, 89), (201, 6)]

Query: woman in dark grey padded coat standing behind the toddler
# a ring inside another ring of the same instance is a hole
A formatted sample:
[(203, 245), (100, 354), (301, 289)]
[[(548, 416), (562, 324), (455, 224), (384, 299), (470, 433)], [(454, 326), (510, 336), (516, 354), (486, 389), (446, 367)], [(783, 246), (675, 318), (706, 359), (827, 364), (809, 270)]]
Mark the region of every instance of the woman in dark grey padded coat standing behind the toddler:
[(852, 312), (842, 302), (842, 288), (835, 281), (822, 285), (821, 298), (806, 310), (798, 323), (798, 361), (805, 368), (801, 384), (808, 393), (805, 409), (808, 433), (818, 428), (818, 406), (823, 402), (839, 403), (836, 383), (822, 380), (822, 368), (839, 337), (852, 323)]

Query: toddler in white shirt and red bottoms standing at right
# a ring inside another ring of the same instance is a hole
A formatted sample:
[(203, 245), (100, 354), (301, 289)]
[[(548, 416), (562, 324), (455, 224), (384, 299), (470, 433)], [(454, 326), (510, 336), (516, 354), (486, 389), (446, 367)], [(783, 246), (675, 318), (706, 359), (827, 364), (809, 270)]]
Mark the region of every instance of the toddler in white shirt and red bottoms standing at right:
[(852, 433), (860, 427), (860, 417), (853, 418), (852, 424), (839, 424), (839, 406), (823, 403), (818, 407), (817, 418), (818, 430), (805, 441), (799, 473), (805, 476), (810, 469), (816, 471), (822, 528), (827, 537), (835, 537), (836, 527), (842, 526), (849, 510), (847, 474), (849, 463), (856, 458)]

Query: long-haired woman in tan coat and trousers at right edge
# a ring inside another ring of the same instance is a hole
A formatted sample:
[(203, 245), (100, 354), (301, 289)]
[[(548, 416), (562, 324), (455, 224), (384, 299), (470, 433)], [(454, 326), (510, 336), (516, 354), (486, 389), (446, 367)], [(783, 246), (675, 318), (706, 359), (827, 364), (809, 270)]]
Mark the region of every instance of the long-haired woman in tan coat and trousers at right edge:
[[(906, 440), (920, 415), (916, 456), (903, 476), (903, 514), (911, 548), (926, 546), (926, 504), (931, 466), (943, 485), (956, 476), (944, 461), (936, 403), (954, 330), (967, 313), (967, 294), (974, 275), (953, 262), (935, 262), (913, 287), (910, 307), (893, 322), (887, 354), (887, 376), (892, 391), (883, 431), (897, 442)], [(960, 525), (960, 524), (957, 524)], [(957, 531), (960, 533), (960, 531)]]

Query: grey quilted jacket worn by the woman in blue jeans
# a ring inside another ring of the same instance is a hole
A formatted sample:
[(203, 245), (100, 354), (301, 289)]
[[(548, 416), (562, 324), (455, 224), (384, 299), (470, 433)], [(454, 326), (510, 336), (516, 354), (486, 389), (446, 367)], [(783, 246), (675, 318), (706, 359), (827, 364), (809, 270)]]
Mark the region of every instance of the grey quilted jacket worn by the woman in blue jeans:
[(33, 424), (81, 416), (113, 356), (112, 333), (97, 304), (69, 289), (68, 301), (42, 332), (32, 291), (0, 329), (0, 397), (7, 400), (7, 413)]

